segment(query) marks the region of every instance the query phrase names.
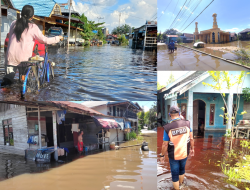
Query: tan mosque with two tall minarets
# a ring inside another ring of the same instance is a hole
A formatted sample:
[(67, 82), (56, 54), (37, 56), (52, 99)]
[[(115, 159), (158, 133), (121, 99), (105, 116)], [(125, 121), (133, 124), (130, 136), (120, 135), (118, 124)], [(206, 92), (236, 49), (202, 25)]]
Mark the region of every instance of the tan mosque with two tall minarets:
[(203, 30), (200, 33), (198, 31), (198, 22), (195, 22), (195, 32), (194, 32), (195, 41), (199, 39), (202, 42), (210, 44), (226, 43), (230, 41), (230, 33), (222, 31), (220, 28), (218, 28), (216, 17), (217, 14), (214, 13), (213, 28), (209, 30)]

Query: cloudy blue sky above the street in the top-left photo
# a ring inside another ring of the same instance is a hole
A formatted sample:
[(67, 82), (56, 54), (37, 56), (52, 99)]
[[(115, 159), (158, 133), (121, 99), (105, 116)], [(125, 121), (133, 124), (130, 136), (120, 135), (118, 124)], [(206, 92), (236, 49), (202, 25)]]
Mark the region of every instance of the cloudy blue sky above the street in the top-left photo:
[[(66, 3), (67, 0), (55, 0), (58, 3)], [(105, 22), (104, 27), (109, 29), (128, 24), (132, 27), (140, 27), (146, 20), (154, 20), (157, 13), (156, 0), (73, 0), (73, 8), (80, 14), (84, 13), (89, 20), (98, 22), (97, 17), (104, 17), (100, 22)], [(155, 15), (155, 16), (154, 16)]]

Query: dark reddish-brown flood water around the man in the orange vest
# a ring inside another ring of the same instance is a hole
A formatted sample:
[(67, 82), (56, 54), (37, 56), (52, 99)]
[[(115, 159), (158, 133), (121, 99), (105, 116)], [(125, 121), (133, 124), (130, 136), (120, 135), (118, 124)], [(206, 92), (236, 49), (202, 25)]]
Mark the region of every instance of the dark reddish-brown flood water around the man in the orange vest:
[[(227, 180), (227, 176), (221, 171), (220, 163), (223, 156), (229, 150), (229, 144), (225, 141), (225, 131), (205, 131), (204, 137), (194, 139), (194, 157), (188, 157), (184, 188), (182, 190), (245, 190), (250, 183), (238, 182), (237, 187)], [(163, 142), (163, 128), (158, 128), (157, 153), (161, 152)], [(239, 146), (239, 139), (234, 142)], [(158, 190), (173, 190), (172, 178), (168, 157), (164, 164), (157, 163)]]

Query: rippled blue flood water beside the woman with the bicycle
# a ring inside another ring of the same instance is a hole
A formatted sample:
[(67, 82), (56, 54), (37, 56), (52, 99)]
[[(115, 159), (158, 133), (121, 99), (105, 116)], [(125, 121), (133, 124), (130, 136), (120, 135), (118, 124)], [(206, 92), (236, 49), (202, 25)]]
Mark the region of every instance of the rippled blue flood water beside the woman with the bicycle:
[[(26, 100), (155, 100), (156, 52), (124, 46), (49, 48), (55, 79)], [(3, 64), (3, 60), (1, 60)], [(2, 78), (2, 77), (1, 77)], [(19, 88), (0, 91), (19, 100)]]

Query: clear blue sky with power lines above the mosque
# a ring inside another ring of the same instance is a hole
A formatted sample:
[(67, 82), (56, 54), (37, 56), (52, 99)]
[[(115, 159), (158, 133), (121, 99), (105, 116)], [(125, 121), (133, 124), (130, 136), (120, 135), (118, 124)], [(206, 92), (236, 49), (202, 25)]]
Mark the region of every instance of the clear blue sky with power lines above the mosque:
[[(181, 7), (186, 0), (158, 0), (158, 31), (164, 32), (168, 29), (177, 16)], [(187, 0), (186, 5), (190, 0)], [(192, 1), (189, 6), (186, 6), (186, 13), (183, 13), (182, 19), (175, 22), (174, 28), (183, 30), (200, 12), (212, 1), (202, 0), (197, 9), (191, 15), (192, 10), (195, 8), (196, 3), (200, 0)], [(171, 3), (170, 3), (171, 2)], [(178, 4), (177, 4), (178, 2)], [(166, 9), (166, 7), (168, 8)], [(176, 7), (176, 8), (175, 8)], [(214, 0), (213, 3), (183, 32), (193, 33), (195, 30), (195, 22), (198, 22), (198, 30), (210, 29), (213, 27), (212, 14), (217, 14), (217, 24), (221, 30), (230, 32), (240, 32), (246, 28), (250, 28), (250, 14), (249, 13), (250, 1), (249, 0)], [(166, 9), (166, 11), (164, 11)], [(163, 14), (163, 13), (164, 14)], [(173, 16), (174, 14), (174, 16)], [(181, 14), (181, 13), (180, 13)], [(186, 18), (186, 19), (185, 19)], [(185, 23), (185, 24), (184, 24)], [(182, 27), (182, 25), (184, 26)], [(172, 28), (172, 27), (171, 27)]]

